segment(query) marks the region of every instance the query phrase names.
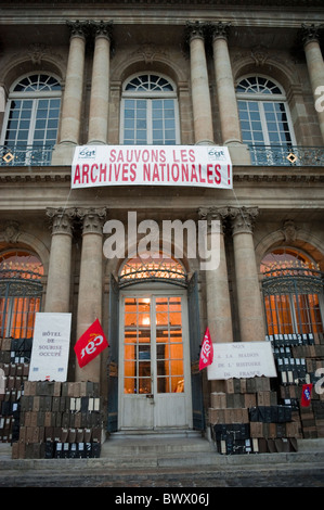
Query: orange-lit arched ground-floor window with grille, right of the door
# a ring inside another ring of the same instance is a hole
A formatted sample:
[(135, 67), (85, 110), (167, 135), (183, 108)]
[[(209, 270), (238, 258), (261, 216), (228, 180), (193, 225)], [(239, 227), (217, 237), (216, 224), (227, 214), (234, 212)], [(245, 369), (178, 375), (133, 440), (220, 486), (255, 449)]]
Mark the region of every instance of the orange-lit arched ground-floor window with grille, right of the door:
[(277, 248), (265, 255), (261, 272), (268, 334), (323, 333), (323, 275), (310, 257)]

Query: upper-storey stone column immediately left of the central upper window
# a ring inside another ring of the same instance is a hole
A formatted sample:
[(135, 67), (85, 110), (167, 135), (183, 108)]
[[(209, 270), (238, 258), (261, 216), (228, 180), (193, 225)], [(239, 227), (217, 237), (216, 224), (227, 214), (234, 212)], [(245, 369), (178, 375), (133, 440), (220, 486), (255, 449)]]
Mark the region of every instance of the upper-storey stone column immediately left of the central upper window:
[(94, 54), (91, 80), (88, 143), (107, 143), (109, 53), (112, 23), (92, 23)]

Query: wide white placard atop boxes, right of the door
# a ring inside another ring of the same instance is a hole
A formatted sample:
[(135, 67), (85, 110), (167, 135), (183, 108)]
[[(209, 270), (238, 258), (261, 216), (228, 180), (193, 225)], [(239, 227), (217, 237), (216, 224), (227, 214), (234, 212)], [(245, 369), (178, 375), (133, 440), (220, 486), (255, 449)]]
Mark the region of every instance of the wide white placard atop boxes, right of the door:
[(276, 378), (270, 342), (231, 342), (212, 344), (213, 360), (207, 367), (208, 380)]

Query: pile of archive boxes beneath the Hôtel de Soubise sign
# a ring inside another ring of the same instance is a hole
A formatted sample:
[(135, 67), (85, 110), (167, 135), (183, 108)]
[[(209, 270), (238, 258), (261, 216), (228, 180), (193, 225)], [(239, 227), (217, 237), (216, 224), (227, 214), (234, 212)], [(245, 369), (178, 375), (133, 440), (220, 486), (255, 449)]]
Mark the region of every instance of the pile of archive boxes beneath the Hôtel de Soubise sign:
[(13, 458), (100, 457), (102, 400), (92, 382), (26, 381)]

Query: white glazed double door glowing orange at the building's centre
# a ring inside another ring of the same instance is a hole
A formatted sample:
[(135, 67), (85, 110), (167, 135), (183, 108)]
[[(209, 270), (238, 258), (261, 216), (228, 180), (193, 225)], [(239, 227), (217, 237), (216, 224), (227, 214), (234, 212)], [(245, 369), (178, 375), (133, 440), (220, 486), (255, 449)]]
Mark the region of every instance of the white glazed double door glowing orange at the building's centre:
[(119, 430), (192, 426), (185, 291), (121, 293)]

